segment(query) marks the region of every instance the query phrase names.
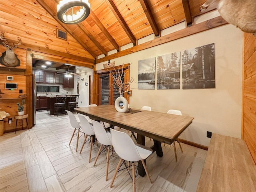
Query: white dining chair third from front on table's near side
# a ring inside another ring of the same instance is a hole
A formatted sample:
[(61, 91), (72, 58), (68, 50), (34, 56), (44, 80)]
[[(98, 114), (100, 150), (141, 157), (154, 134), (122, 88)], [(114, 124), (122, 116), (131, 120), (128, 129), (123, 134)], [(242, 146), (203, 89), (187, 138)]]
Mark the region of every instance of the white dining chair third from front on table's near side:
[(95, 139), (95, 142), (93, 142), (93, 137), (95, 136), (94, 128), (93, 128), (93, 126), (91, 126), (89, 124), (88, 120), (84, 116), (78, 115), (78, 118), (80, 120), (80, 125), (81, 125), (81, 128), (82, 128), (82, 131), (84, 133), (84, 142), (82, 144), (80, 153), (82, 152), (82, 150), (84, 148), (84, 144), (86, 142), (90, 142), (90, 155), (89, 155), (89, 163), (90, 163), (91, 162), (91, 155), (92, 155), (92, 145), (95, 142), (97, 142), (96, 139)]

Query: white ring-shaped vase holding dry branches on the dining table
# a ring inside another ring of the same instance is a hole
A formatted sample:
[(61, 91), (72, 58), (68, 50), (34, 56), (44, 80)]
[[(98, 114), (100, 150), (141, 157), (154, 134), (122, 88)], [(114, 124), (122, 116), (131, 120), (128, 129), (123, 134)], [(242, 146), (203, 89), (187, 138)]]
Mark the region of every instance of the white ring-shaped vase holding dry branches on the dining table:
[[(116, 98), (115, 108), (118, 112), (126, 112), (128, 109), (128, 101), (123, 97), (123, 94), (128, 92), (130, 88), (130, 84), (134, 81), (134, 78), (131, 78), (128, 82), (123, 82), (123, 74), (124, 74), (124, 64), (122, 65), (122, 69), (118, 66), (118, 71), (115, 70), (115, 73), (112, 72), (112, 77), (114, 79), (113, 87), (120, 94), (120, 97)], [(119, 103), (123, 102), (122, 108)]]

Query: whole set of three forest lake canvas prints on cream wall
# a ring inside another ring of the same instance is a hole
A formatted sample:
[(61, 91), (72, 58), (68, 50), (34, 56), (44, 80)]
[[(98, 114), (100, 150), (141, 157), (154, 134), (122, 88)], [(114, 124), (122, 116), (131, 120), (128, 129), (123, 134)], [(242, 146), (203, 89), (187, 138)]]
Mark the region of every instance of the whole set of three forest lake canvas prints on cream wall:
[(138, 61), (138, 89), (180, 89), (180, 80), (182, 89), (215, 88), (214, 43)]

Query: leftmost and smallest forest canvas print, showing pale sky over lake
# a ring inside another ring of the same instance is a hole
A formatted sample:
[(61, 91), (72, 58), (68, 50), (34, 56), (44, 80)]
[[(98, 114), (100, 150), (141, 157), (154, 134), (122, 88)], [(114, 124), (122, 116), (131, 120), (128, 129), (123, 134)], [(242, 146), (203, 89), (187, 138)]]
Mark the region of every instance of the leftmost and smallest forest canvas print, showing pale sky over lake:
[(138, 61), (138, 89), (155, 89), (156, 58)]

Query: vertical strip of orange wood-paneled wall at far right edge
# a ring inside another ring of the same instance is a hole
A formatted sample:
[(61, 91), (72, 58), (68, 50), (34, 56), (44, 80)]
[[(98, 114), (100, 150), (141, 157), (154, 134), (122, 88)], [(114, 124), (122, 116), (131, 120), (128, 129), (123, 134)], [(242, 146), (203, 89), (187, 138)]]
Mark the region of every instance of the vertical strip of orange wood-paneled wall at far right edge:
[(244, 33), (242, 138), (256, 163), (256, 37)]

